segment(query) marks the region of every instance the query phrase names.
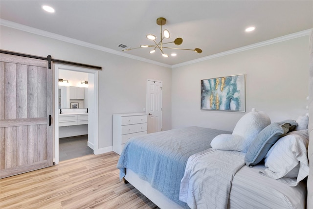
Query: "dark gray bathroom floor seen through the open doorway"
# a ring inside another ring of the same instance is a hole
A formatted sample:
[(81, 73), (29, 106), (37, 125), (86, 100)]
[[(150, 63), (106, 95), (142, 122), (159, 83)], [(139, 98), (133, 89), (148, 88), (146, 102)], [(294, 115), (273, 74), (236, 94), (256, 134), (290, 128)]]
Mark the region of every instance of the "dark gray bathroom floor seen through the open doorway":
[(67, 137), (59, 139), (59, 161), (78, 158), (93, 154), (93, 150), (87, 146), (88, 135)]

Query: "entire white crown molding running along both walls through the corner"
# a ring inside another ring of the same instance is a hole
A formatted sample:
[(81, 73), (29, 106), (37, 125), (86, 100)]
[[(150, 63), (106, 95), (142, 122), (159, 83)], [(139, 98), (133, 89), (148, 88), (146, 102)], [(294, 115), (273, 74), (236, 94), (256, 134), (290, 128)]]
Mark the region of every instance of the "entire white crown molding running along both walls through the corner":
[(221, 53), (213, 54), (213, 55), (202, 57), (202, 58), (195, 59), (195, 60), (190, 60), (190, 61), (179, 63), (179, 64), (176, 64), (176, 65), (167, 65), (167, 64), (164, 64), (164, 63), (156, 62), (156, 61), (149, 60), (149, 59), (146, 59), (146, 58), (142, 58), (142, 57), (139, 57), (139, 56), (123, 53), (123, 52), (120, 52), (120, 51), (117, 51), (117, 50), (113, 50), (111, 48), (107, 48), (107, 47), (104, 47), (104, 46), (90, 44), (88, 42), (79, 41), (77, 39), (72, 39), (72, 38), (69, 38), (69, 37), (66, 37), (66, 36), (61, 36), (61, 35), (58, 35), (58, 34), (55, 34), (55, 33), (47, 32), (45, 30), (40, 30), (40, 29), (37, 29), (37, 28), (34, 28), (34, 27), (29, 27), (29, 26), (26, 26), (26, 25), (23, 25), (23, 24), (14, 23), (14, 22), (7, 21), (7, 20), (4, 20), (4, 19), (0, 19), (0, 25), (6, 26), (6, 27), (11, 27), (11, 28), (18, 29), (18, 30), (22, 30), (22, 31), (29, 32), (29, 33), (34, 33), (34, 34), (37, 34), (37, 35), (45, 36), (45, 37), (48, 37), (48, 38), (64, 41), (64, 42), (75, 44), (75, 45), (79, 45), (79, 46), (89, 47), (89, 48), (92, 48), (92, 49), (108, 52), (108, 53), (111, 53), (111, 54), (127, 57), (127, 58), (130, 58), (130, 59), (135, 59), (135, 60), (139, 60), (139, 61), (142, 61), (142, 62), (147, 62), (147, 63), (151, 63), (151, 64), (154, 64), (154, 65), (163, 66), (163, 67), (167, 67), (167, 68), (172, 68), (172, 69), (173, 68), (178, 68), (178, 67), (181, 67), (181, 66), (185, 66), (185, 65), (199, 63), (199, 62), (202, 62), (202, 61), (205, 61), (205, 60), (214, 59), (214, 58), (217, 58), (217, 57), (226, 56), (226, 55), (229, 55), (229, 54), (238, 53), (238, 52), (241, 52), (241, 51), (250, 50), (250, 49), (253, 49), (253, 48), (258, 48), (258, 47), (261, 47), (261, 46), (267, 46), (267, 45), (271, 45), (271, 44), (287, 41), (287, 40), (290, 40), (290, 39), (299, 38), (299, 37), (302, 37), (302, 36), (308, 36), (308, 35), (310, 35), (310, 33), (312, 31), (312, 29), (303, 30), (303, 31), (300, 31), (300, 32), (296, 32), (296, 33), (292, 33), (292, 34), (289, 34), (289, 35), (281, 36), (281, 37), (278, 37), (278, 38), (270, 39), (270, 40), (267, 40), (267, 41), (264, 41), (264, 42), (259, 42), (259, 43), (256, 43), (256, 44), (252, 44), (252, 45), (243, 46), (243, 47), (240, 47), (240, 48), (231, 49), (231, 50), (228, 50), (228, 51), (224, 51), (224, 52), (221, 52)]

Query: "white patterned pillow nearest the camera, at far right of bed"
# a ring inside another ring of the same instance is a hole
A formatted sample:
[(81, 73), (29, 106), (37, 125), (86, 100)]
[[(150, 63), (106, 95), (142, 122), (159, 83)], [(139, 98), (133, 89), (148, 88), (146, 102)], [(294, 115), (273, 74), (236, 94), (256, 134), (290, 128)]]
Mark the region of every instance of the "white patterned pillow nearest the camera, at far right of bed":
[(280, 138), (264, 159), (264, 172), (289, 186), (298, 185), (309, 174), (308, 143), (308, 130), (293, 131)]

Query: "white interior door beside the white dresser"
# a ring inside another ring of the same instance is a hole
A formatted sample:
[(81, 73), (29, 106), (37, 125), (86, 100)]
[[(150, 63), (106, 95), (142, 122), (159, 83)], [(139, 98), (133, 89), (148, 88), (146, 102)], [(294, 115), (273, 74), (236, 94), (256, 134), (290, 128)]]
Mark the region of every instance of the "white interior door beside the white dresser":
[(148, 80), (148, 134), (162, 131), (162, 81)]

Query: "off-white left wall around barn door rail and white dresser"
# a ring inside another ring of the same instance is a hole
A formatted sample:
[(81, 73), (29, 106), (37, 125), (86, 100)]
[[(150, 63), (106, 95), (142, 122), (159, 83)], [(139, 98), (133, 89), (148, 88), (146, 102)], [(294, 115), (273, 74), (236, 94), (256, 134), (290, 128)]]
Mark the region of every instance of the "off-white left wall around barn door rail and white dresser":
[(99, 149), (112, 146), (112, 114), (143, 113), (147, 79), (163, 81), (163, 130), (171, 129), (171, 69), (0, 27), (2, 50), (102, 66), (99, 71)]

